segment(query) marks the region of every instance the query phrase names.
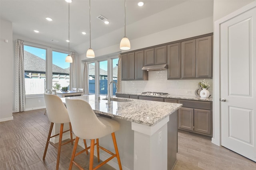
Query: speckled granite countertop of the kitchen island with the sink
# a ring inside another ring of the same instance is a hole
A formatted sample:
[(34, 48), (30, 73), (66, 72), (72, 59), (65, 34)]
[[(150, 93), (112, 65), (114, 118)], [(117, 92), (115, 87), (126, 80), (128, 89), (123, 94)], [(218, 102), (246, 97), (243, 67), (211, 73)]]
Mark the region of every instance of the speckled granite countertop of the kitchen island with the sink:
[[(90, 104), (95, 113), (124, 119), (135, 123), (140, 123), (147, 126), (154, 126), (165, 117), (182, 107), (182, 104), (174, 104), (168, 102), (155, 102), (148, 100), (127, 99), (129, 102), (108, 103), (107, 100), (102, 100), (105, 96), (86, 95), (69, 97), (71, 99), (82, 99)], [(66, 98), (61, 98), (62, 102), (66, 103)]]

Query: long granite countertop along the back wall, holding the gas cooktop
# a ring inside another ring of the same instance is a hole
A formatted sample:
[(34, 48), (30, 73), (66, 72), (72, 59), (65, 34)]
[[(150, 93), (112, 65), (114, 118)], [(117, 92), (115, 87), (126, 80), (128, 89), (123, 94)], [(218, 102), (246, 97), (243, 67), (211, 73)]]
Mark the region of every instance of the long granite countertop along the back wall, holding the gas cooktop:
[(141, 94), (141, 93), (118, 93), (118, 92), (116, 92), (116, 94), (128, 94), (128, 95), (137, 95), (137, 96), (150, 96), (150, 97), (186, 99), (186, 100), (201, 100), (201, 101), (212, 102), (211, 97), (210, 98), (201, 98), (200, 96), (184, 96), (184, 95), (174, 95), (174, 94), (153, 96), (153, 95)]

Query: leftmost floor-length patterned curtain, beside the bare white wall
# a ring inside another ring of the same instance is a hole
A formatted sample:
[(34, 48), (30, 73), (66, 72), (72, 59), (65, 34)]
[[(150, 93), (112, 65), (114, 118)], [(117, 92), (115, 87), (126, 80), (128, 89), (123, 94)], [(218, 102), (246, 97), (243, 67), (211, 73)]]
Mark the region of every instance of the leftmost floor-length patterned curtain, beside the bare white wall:
[(24, 41), (17, 39), (15, 46), (14, 112), (25, 111)]

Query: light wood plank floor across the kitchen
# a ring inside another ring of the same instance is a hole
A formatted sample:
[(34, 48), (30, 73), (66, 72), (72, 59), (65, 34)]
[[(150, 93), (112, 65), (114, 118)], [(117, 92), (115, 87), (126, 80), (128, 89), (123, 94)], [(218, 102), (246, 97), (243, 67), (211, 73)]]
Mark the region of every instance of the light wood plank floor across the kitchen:
[[(0, 122), (0, 170), (55, 170), (57, 150), (54, 147), (49, 145), (46, 159), (42, 160), (50, 127), (44, 111), (45, 109), (38, 109), (13, 113), (14, 120)], [(62, 147), (60, 170), (68, 169), (71, 152), (71, 144)], [(83, 153), (76, 160), (88, 169), (89, 155)], [(95, 165), (96, 162), (95, 157)], [(78, 168), (73, 166), (72, 169)], [(114, 170), (108, 165), (100, 169)], [(212, 144), (209, 139), (178, 133), (177, 163), (174, 170), (202, 169), (256, 170), (256, 163)]]

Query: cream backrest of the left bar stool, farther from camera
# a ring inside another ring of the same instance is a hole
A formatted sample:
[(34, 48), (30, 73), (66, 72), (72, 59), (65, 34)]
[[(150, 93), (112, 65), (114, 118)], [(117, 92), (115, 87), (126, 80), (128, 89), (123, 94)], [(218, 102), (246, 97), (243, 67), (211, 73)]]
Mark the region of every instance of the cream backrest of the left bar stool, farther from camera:
[(68, 110), (62, 100), (53, 94), (44, 94), (48, 119), (53, 123), (69, 123)]

